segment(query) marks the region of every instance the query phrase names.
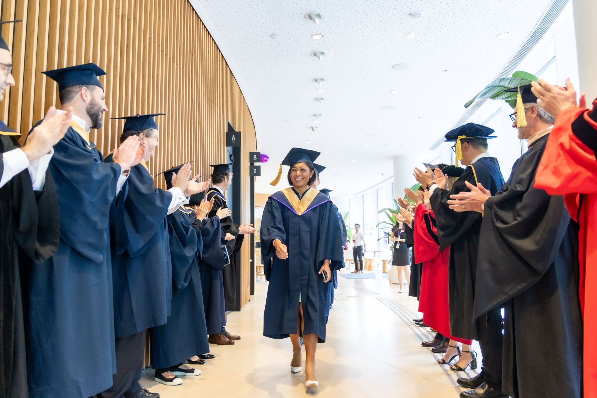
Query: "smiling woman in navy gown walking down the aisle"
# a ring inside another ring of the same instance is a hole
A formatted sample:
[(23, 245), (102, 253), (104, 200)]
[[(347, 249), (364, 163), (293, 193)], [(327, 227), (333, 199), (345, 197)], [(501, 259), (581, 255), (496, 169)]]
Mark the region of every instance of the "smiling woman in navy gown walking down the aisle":
[[(263, 335), (290, 337), (291, 372), (301, 371), (299, 337), (306, 350), (305, 385), (318, 387), (315, 376), (317, 343), (325, 343), (330, 309), (331, 270), (342, 267), (342, 231), (327, 196), (308, 185), (315, 180), (313, 161), (319, 152), (293, 148), (282, 165), (290, 166), (290, 188), (267, 199), (261, 219), (261, 255), (267, 289)], [(282, 165), (273, 185), (278, 183)]]

